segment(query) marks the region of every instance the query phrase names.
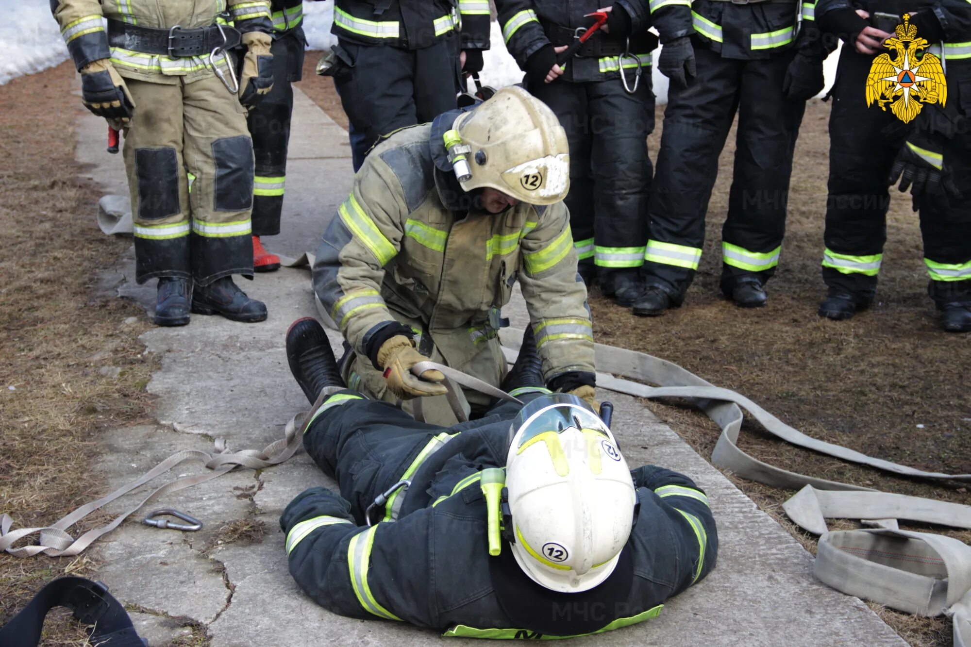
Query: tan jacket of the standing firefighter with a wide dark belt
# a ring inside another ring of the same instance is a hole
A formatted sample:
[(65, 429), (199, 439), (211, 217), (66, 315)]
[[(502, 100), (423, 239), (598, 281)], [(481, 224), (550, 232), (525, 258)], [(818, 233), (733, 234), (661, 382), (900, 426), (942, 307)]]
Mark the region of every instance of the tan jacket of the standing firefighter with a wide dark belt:
[[(183, 29), (205, 27), (228, 12), (236, 29), (246, 33), (273, 29), (270, 0), (52, 0), (54, 17), (61, 36), (80, 71), (93, 60), (110, 58), (118, 74), (125, 79), (149, 83), (177, 84), (213, 76), (209, 56), (167, 56), (144, 53), (108, 45), (108, 34), (102, 18), (140, 27)], [(111, 26), (109, 25), (109, 29)], [(225, 72), (229, 58), (218, 56), (216, 64)]]

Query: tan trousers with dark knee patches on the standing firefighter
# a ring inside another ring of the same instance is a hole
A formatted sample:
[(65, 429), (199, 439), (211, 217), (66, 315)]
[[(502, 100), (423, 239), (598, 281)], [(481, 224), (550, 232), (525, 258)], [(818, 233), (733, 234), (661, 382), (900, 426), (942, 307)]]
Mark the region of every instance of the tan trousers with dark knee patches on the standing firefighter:
[(136, 281), (252, 276), (252, 144), (236, 95), (215, 76), (125, 83), (136, 105), (124, 135)]

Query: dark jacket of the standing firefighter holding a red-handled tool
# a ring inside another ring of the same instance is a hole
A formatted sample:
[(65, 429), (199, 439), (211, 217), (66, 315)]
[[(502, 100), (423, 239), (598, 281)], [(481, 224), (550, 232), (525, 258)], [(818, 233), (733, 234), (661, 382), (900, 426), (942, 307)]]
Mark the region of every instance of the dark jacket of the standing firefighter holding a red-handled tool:
[[(628, 75), (640, 64), (647, 68), (651, 65), (651, 52), (657, 47), (657, 37), (648, 31), (655, 26), (665, 42), (690, 32), (690, 21), (679, 23), (669, 19), (672, 12), (665, 8), (649, 10), (647, 0), (617, 0), (630, 16), (632, 36), (629, 42), (611, 39), (603, 32), (594, 34), (588, 43), (595, 48), (611, 46), (604, 55), (575, 56), (565, 66), (563, 81), (587, 82), (619, 79), (620, 70)], [(546, 45), (569, 45), (578, 28), (586, 28), (592, 18), (586, 14), (604, 6), (598, 0), (497, 0), (499, 24), (506, 48), (516, 58), (519, 67), (526, 69), (526, 59)], [(669, 3), (662, 3), (669, 4)], [(602, 44), (602, 45), (601, 45)], [(619, 51), (617, 50), (619, 48)]]

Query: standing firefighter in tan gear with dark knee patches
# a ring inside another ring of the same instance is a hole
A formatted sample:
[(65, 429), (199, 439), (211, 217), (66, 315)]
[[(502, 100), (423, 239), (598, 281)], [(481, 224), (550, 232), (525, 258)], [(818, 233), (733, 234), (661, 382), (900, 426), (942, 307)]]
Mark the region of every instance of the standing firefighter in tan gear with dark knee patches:
[[(266, 306), (232, 275), (252, 278), (246, 108), (273, 86), (269, 0), (52, 0), (51, 9), (84, 106), (124, 129), (135, 281), (158, 279), (155, 323), (184, 325), (190, 311), (265, 320)], [(217, 23), (223, 10), (234, 27)], [(240, 43), (236, 83), (227, 51)]]

